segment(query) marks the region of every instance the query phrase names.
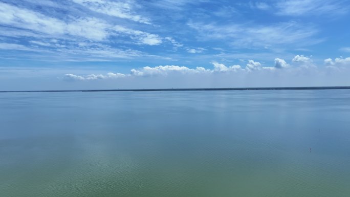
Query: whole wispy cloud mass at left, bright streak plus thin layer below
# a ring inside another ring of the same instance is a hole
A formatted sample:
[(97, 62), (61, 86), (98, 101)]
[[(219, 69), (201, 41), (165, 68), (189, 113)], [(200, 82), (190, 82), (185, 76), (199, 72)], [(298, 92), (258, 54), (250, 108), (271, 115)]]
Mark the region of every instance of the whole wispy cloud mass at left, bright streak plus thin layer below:
[[(105, 2), (105, 1), (102, 1)], [(57, 6), (57, 5), (55, 5)], [(127, 5), (124, 5), (127, 7)], [(160, 45), (163, 38), (140, 30), (114, 25), (103, 18), (68, 15), (67, 17), (47, 16), (38, 11), (0, 2), (0, 35), (26, 38), (21, 43), (2, 43), (3, 50), (20, 50), (42, 53), (56, 53), (72, 58), (129, 58), (148, 56), (135, 49), (120, 49), (115, 43), (134, 45)], [(171, 38), (170, 43), (180, 46)], [(56, 55), (56, 56), (57, 56)], [(45, 60), (46, 58), (42, 58)]]

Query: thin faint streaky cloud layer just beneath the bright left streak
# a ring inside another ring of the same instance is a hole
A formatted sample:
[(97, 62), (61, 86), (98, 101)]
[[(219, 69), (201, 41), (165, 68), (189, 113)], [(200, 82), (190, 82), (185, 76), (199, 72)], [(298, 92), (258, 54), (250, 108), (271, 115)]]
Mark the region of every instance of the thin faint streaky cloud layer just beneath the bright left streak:
[(115, 58), (155, 57), (141, 51), (116, 49), (96, 42), (41, 39), (29, 40), (28, 43), (29, 45), (25, 46), (17, 43), (2, 42), (0, 43), (0, 49), (33, 52), (35, 55), (33, 53), (27, 55), (28, 60), (40, 59), (41, 61), (111, 61)]

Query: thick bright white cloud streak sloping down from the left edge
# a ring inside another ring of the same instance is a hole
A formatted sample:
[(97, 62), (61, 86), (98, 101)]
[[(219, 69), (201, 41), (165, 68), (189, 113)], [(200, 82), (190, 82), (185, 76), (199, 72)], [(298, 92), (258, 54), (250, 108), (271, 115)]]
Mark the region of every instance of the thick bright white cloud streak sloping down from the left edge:
[[(162, 38), (156, 34), (133, 30), (122, 26), (114, 26), (106, 21), (95, 17), (68, 17), (67, 21), (48, 17), (32, 10), (19, 8), (5, 3), (0, 3), (0, 24), (14, 28), (26, 29), (22, 36), (59, 37), (76, 40), (77, 38), (105, 41), (112, 35), (128, 35), (138, 44), (159, 45)], [(33, 33), (34, 32), (34, 33)], [(17, 32), (18, 33), (18, 32)], [(8, 34), (11, 36), (11, 34)], [(20, 36), (20, 35), (15, 35)], [(38, 42), (36, 44), (39, 45)]]

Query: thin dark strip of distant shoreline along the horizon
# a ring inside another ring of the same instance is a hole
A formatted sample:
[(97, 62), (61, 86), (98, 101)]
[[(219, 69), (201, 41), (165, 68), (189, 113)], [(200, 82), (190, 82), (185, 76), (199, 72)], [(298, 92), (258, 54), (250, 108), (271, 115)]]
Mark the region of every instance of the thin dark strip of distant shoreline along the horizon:
[(110, 90), (39, 90), (39, 91), (0, 91), (0, 93), (20, 92), (157, 92), (157, 91), (244, 91), (244, 90), (349, 90), (350, 86), (312, 87), (222, 87), (222, 88), (174, 88), (174, 89), (110, 89)]

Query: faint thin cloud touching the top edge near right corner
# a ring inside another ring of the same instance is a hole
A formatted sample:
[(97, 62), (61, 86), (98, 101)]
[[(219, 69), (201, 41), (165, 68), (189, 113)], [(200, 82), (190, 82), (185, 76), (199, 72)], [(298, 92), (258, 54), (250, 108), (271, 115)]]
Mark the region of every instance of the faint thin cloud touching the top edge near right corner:
[(339, 0), (287, 0), (279, 1), (275, 6), (278, 9), (276, 14), (300, 16), (300, 15), (321, 15), (327, 16), (343, 14), (348, 6)]

